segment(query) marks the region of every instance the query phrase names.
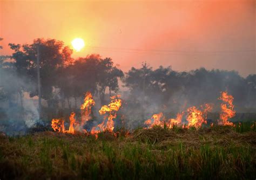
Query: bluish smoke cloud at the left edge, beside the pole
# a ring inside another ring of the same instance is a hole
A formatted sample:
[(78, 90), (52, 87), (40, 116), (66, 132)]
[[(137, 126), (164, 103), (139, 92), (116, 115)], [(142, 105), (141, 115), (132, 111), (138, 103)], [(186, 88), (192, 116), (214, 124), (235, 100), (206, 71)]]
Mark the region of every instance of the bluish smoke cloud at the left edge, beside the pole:
[(24, 89), (33, 90), (35, 84), (8, 68), (0, 68), (0, 131), (8, 135), (24, 134), (39, 122), (35, 99)]

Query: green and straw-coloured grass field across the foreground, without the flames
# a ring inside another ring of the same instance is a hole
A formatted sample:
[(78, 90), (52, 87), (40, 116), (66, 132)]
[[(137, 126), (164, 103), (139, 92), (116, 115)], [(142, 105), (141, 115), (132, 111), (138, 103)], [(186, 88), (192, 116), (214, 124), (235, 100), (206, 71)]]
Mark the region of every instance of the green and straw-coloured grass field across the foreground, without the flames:
[(1, 179), (255, 179), (254, 122), (0, 136)]

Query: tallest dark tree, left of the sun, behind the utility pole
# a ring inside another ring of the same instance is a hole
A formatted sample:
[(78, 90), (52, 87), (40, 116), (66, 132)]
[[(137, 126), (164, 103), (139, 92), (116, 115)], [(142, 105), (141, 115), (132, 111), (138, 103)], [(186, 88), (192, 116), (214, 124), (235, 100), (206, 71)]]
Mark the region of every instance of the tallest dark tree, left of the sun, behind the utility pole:
[[(28, 75), (29, 80), (34, 84), (38, 81), (37, 56), (39, 50), (39, 75), (42, 98), (48, 100), (48, 105), (51, 106), (53, 98), (52, 89), (54, 86), (57, 86), (57, 72), (71, 59), (69, 48), (64, 46), (62, 41), (56, 39), (35, 39), (32, 44), (24, 44), (22, 46), (19, 44), (9, 45), (15, 51), (12, 54), (12, 58), (15, 59), (18, 73)], [(38, 95), (38, 89), (35, 86), (26, 90), (30, 92), (31, 97)]]

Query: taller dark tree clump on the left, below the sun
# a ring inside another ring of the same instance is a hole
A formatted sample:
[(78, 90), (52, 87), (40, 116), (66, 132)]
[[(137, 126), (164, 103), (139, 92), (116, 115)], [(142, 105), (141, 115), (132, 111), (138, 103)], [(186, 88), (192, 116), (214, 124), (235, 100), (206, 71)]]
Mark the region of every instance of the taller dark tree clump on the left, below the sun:
[[(54, 98), (54, 89), (58, 89), (63, 106), (65, 100), (70, 106), (70, 98), (76, 100), (86, 91), (99, 95), (104, 101), (106, 91), (116, 93), (118, 78), (124, 77), (124, 73), (113, 65), (111, 58), (102, 59), (92, 54), (75, 60), (71, 57), (72, 50), (56, 39), (36, 39), (32, 44), (9, 46), (14, 53), (10, 57), (2, 56), (0, 61), (2, 100), (11, 101), (11, 96), (19, 94), (22, 104), (23, 92), (28, 92), (31, 98), (38, 96), (37, 58), (41, 98), (47, 101), (49, 107), (56, 107), (58, 103)], [(22, 78), (22, 82), (12, 83), (10, 74)]]

